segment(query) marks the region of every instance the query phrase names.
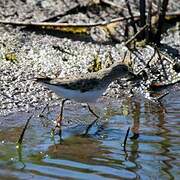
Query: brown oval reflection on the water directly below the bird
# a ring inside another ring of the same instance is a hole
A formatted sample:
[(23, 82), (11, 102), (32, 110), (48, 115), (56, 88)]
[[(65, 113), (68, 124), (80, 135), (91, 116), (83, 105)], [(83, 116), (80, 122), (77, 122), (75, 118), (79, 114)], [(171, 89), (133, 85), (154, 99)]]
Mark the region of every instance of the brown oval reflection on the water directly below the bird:
[(92, 163), (93, 159), (103, 159), (110, 153), (100, 147), (101, 143), (95, 139), (81, 136), (73, 136), (60, 144), (48, 148), (47, 154), (51, 158), (67, 159), (82, 163)]

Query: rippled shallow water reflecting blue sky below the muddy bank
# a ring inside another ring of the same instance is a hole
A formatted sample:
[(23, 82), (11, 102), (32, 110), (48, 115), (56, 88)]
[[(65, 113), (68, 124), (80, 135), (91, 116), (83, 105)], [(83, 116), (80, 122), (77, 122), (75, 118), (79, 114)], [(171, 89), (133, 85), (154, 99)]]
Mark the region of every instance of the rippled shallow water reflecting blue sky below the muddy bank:
[[(31, 114), (7, 116), (0, 124), (0, 179), (180, 179), (180, 91), (162, 104), (126, 99), (121, 106), (98, 105), (102, 118), (87, 136), (87, 126), (76, 120), (92, 116), (67, 107), (61, 140), (50, 136), (52, 121), (34, 115), (21, 151), (15, 142)], [(140, 136), (131, 140), (130, 132), (124, 151), (129, 126)]]

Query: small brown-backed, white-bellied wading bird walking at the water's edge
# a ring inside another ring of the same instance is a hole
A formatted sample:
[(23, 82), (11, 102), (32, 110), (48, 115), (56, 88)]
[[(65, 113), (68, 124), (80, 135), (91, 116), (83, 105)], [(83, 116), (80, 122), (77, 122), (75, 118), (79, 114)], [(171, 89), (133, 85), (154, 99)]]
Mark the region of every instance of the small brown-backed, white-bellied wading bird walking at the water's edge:
[(63, 97), (61, 104), (61, 112), (56, 119), (55, 128), (52, 130), (54, 133), (56, 128), (61, 130), (61, 122), (63, 118), (64, 103), (67, 100), (74, 100), (80, 103), (87, 103), (89, 111), (98, 118), (88, 103), (95, 102), (107, 89), (108, 85), (121, 77), (131, 76), (127, 65), (120, 62), (114, 63), (112, 66), (106, 69), (102, 69), (98, 72), (86, 74), (83, 77), (71, 78), (71, 79), (51, 79), (48, 77), (38, 77), (37, 82), (40, 82), (47, 86), (50, 90), (55, 92), (58, 96)]

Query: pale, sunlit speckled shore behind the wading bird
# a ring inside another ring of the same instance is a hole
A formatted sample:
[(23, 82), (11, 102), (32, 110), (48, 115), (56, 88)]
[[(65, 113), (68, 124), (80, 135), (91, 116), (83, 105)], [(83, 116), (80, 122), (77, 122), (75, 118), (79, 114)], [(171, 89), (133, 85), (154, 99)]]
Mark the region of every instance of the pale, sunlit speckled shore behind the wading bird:
[[(55, 5), (56, 3), (54, 7)], [(26, 8), (24, 10), (28, 11)], [(1, 12), (5, 12), (5, 6), (1, 7)], [(26, 16), (22, 13), (19, 20), (26, 19)], [(7, 19), (9, 17), (12, 18), (9, 15)], [(42, 17), (45, 17), (45, 14)], [(79, 14), (78, 20), (82, 19)], [(176, 23), (162, 39), (163, 52), (170, 60), (164, 58), (162, 62), (157, 53), (154, 55), (154, 48), (150, 46), (139, 47), (137, 53), (133, 53), (131, 57), (127, 56), (126, 63), (132, 67), (135, 74), (145, 71), (147, 79), (138, 82), (116, 81), (110, 85), (104, 97), (118, 99), (125, 94), (127, 96), (141, 94), (146, 98), (147, 89), (154, 80), (164, 84), (179, 81), (180, 75), (173, 70), (173, 64), (178, 62), (180, 57), (179, 28), (179, 23)], [(0, 116), (17, 111), (31, 111), (37, 106), (44, 106), (47, 102), (51, 102), (52, 105), (59, 103), (54, 93), (33, 81), (37, 75), (59, 78), (79, 76), (90, 73), (95, 60), (100, 62), (100, 68), (106, 68), (115, 61), (122, 61), (125, 52), (129, 54), (123, 43), (103, 44), (73, 40), (2, 24), (0, 37)], [(149, 68), (147, 63), (152, 56), (154, 57)]]

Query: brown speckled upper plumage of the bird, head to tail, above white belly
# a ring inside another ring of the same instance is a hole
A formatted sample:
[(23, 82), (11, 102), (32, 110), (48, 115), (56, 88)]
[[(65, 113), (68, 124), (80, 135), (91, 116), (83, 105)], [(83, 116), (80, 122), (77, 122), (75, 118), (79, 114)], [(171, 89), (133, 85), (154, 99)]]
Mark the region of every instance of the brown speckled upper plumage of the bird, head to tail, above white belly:
[(125, 64), (115, 63), (107, 69), (89, 73), (80, 78), (51, 79), (48, 77), (40, 77), (37, 78), (36, 81), (44, 84), (61, 86), (65, 89), (80, 90), (80, 92), (83, 93), (93, 89), (103, 89), (113, 80), (117, 79), (118, 77), (127, 75), (128, 73), (129, 70)]

